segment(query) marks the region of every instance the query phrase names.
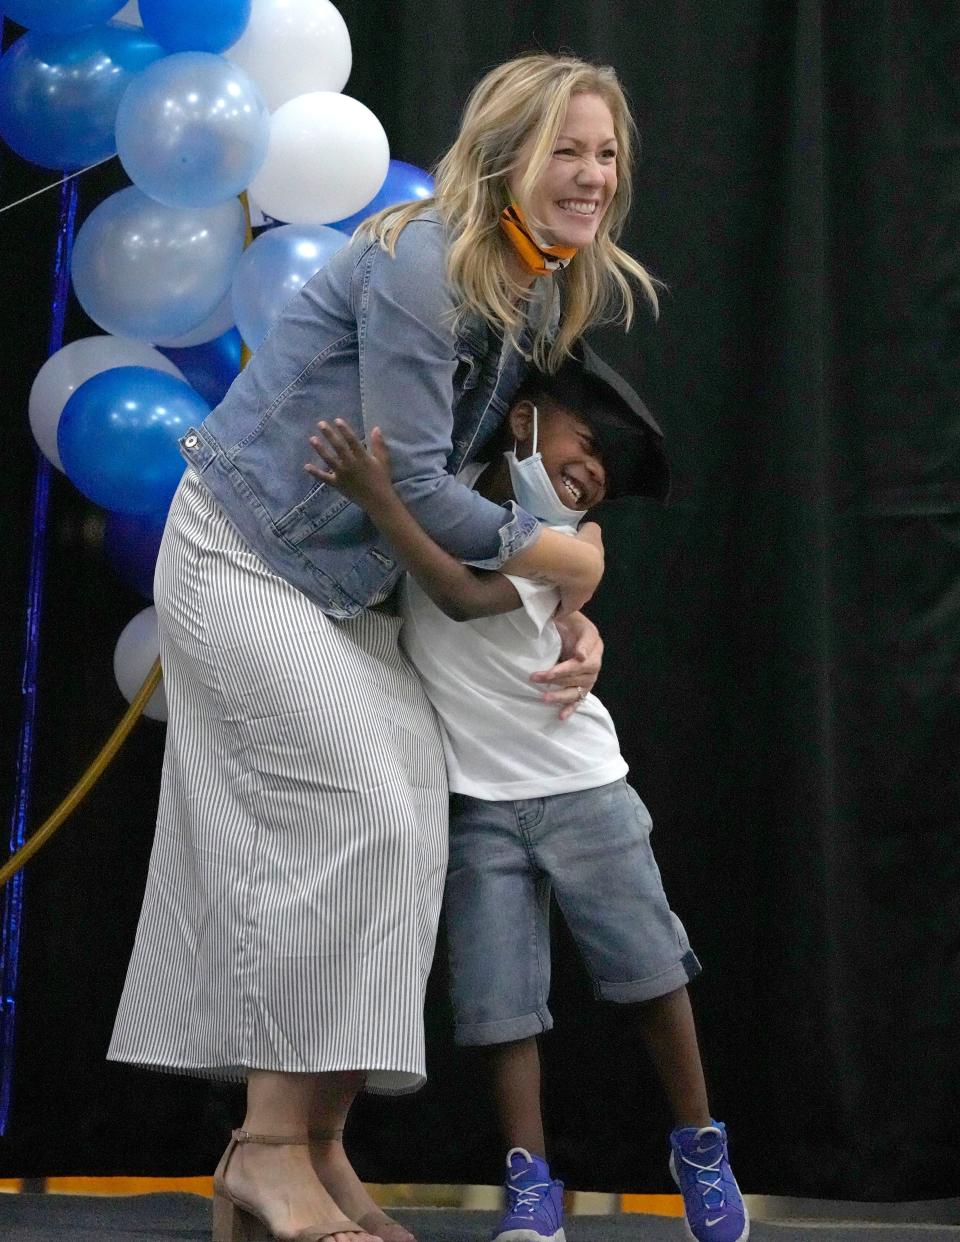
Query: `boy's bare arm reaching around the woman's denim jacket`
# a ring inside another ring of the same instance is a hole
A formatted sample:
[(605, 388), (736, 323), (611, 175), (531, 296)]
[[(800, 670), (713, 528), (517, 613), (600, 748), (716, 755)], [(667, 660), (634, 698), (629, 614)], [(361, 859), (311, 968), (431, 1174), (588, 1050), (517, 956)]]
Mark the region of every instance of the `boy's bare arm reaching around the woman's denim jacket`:
[(318, 426), (322, 435), (310, 436), (310, 443), (327, 469), (313, 462), (304, 469), (333, 484), (369, 514), (438, 609), (453, 621), (469, 621), (520, 606), (517, 589), (503, 574), (463, 565), (420, 525), (390, 481), (390, 455), (379, 427), (370, 433), (368, 451), (342, 419), (334, 426)]

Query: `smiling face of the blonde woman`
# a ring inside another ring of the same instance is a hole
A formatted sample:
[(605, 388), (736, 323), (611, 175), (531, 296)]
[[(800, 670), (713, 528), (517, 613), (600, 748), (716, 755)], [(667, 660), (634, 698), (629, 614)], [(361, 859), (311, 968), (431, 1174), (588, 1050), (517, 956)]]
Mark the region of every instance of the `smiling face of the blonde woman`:
[[(532, 138), (508, 179), (517, 197)], [(530, 216), (548, 246), (589, 246), (617, 188), (614, 117), (599, 94), (575, 94), (553, 154), (530, 195)]]

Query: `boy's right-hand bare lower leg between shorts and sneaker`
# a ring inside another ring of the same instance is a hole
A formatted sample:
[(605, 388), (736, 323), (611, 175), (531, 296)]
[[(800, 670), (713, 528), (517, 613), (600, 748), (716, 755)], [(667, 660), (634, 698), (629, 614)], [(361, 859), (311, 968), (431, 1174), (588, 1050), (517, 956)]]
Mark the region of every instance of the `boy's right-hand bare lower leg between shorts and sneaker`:
[(637, 1005), (640, 1031), (673, 1110), (674, 1125), (710, 1125), (693, 1010), (686, 987)]

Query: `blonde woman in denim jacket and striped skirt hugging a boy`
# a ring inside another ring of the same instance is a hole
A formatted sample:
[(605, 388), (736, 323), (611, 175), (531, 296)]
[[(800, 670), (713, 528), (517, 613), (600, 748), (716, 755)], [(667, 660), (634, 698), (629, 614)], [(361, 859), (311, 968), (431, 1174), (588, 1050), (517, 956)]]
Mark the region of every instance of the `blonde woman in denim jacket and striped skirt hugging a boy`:
[[(576, 610), (590, 539), (456, 479), (533, 358), (555, 369), (611, 313), (632, 123), (612, 70), (534, 55), (468, 101), (436, 197), (389, 209), (294, 298), (190, 468), (156, 571), (170, 709), (144, 909), (112, 1059), (247, 1083), (215, 1240), (405, 1242), (340, 1144), (356, 1093), (423, 1081), (423, 989), (446, 864), (443, 755), (399, 653), (400, 569), (364, 513), (303, 471), (320, 417), (379, 425), (397, 492), (453, 555), (561, 594), (569, 714), (599, 669)], [(564, 315), (559, 317), (561, 273)]]

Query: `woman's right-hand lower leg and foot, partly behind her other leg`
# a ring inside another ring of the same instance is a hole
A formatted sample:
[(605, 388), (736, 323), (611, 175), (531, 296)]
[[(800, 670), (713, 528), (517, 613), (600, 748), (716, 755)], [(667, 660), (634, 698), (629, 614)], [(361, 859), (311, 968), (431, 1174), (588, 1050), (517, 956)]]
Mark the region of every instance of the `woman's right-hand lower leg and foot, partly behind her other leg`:
[(344, 1215), (364, 1225), (384, 1242), (416, 1242), (402, 1225), (376, 1206), (356, 1176), (343, 1146), (343, 1128), (363, 1073), (318, 1074), (309, 1103), (310, 1161), (313, 1170)]

